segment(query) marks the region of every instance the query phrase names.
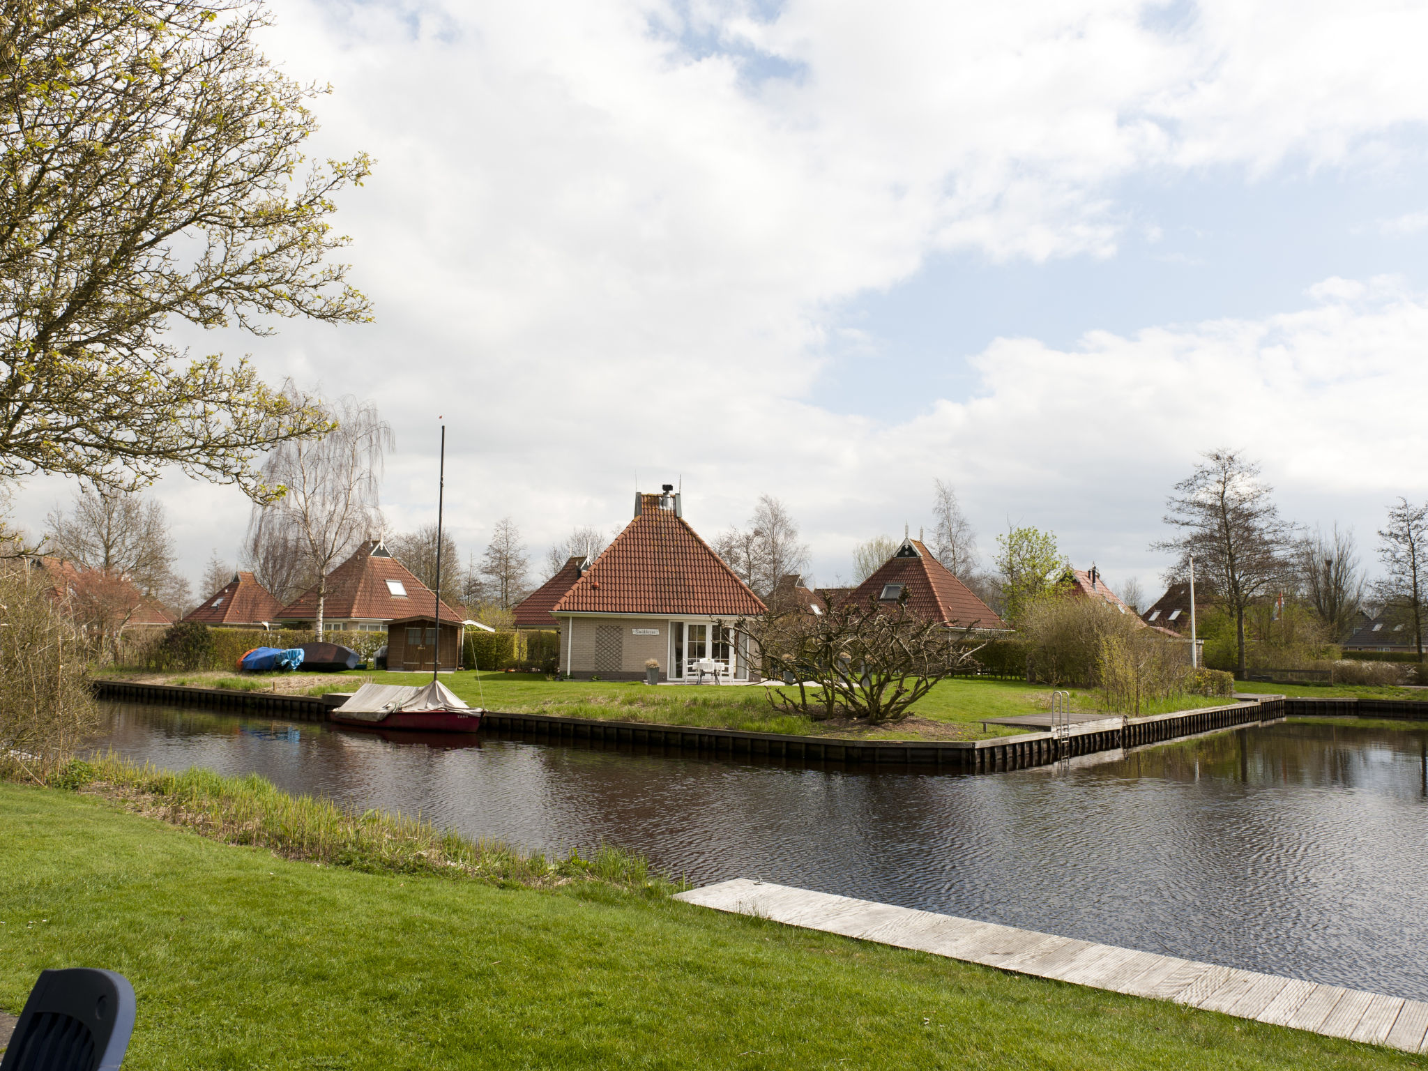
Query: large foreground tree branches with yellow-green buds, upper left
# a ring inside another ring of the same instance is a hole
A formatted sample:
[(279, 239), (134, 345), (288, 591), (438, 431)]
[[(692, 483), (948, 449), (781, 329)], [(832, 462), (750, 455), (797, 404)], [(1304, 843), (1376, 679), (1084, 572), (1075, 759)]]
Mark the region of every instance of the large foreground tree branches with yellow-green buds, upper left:
[(190, 358), (180, 321), (370, 318), (328, 263), (357, 154), (304, 166), (304, 87), (246, 0), (11, 0), (0, 16), (0, 478), (134, 490), (163, 468), (280, 494), (254, 468), (324, 430), (244, 358)]

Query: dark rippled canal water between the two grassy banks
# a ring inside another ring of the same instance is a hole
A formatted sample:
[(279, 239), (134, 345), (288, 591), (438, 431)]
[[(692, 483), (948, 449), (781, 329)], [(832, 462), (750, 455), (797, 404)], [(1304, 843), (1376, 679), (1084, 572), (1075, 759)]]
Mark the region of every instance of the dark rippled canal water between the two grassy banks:
[(1288, 721), (1000, 774), (386, 738), (114, 704), (100, 748), (544, 851), (1428, 1000), (1428, 725)]

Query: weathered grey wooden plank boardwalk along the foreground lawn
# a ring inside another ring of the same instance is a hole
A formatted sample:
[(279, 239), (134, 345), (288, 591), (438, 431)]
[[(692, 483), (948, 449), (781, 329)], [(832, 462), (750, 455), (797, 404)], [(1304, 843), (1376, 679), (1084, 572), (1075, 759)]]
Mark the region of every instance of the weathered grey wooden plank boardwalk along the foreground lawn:
[(1405, 1052), (1428, 1052), (1428, 1004), (1402, 997), (1294, 981), (748, 878), (680, 892), (675, 900), (1038, 978), (1175, 1001)]

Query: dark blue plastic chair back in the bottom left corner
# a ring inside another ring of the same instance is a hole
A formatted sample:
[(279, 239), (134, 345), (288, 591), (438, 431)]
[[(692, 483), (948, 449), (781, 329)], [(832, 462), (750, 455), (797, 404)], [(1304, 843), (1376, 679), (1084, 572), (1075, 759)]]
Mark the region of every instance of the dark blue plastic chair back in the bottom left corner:
[(134, 987), (121, 974), (40, 971), (0, 1071), (119, 1071), (134, 1008)]

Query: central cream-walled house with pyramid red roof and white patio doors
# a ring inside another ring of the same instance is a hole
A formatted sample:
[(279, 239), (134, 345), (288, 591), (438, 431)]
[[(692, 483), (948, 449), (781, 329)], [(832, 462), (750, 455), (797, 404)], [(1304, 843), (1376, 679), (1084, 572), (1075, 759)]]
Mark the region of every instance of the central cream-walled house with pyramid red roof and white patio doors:
[(700, 680), (710, 668), (757, 678), (733, 625), (763, 614), (764, 604), (683, 513), (673, 488), (635, 494), (634, 520), (547, 611), (560, 624), (563, 671), (637, 680), (653, 658), (671, 681)]

